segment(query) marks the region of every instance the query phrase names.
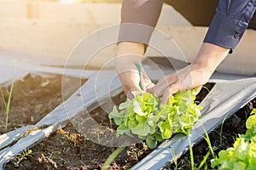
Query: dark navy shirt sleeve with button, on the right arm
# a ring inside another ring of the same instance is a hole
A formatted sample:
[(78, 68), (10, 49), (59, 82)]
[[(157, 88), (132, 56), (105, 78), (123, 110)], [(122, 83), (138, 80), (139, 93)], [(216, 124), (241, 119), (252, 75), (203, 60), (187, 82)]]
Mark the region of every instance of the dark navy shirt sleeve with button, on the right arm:
[(220, 0), (204, 42), (236, 48), (255, 12), (256, 0)]

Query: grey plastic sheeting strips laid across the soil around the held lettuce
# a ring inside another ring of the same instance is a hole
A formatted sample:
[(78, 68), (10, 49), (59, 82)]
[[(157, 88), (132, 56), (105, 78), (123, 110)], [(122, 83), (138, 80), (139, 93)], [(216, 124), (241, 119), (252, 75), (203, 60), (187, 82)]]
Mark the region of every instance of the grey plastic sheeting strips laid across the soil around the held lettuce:
[[(52, 66), (32, 65), (29, 62), (16, 62), (17, 64), (14, 64), (12, 61), (9, 62), (12, 65), (5, 65), (6, 70), (4, 70), (4, 72), (18, 68), (20, 69), (20, 78), (31, 73), (31, 71), (34, 72), (34, 74), (41, 74), (42, 72), (51, 74), (63, 73), (63, 69)], [(0, 65), (4, 64), (0, 63)], [(181, 65), (185, 64), (181, 63)], [(160, 71), (147, 63), (144, 63), (143, 67), (148, 72), (148, 77), (152, 80), (158, 80), (162, 76), (161, 72), (166, 74), (170, 71), (174, 71), (170, 68), (166, 70), (163, 68)], [(37, 124), (20, 127), (0, 136), (0, 169), (3, 169), (6, 162), (18, 155), (25, 148), (32, 148), (32, 146), (47, 138), (51, 133), (54, 133), (58, 127), (65, 126), (68, 120), (79, 115), (84, 109), (92, 111), (96, 106), (104, 105), (104, 99), (109, 96), (109, 94), (116, 95), (122, 91), (115, 71), (81, 71), (66, 69), (64, 73), (67, 76), (85, 77), (88, 78), (88, 80), (65, 102), (57, 106), (55, 110), (50, 111), (49, 114), (44, 116)], [(9, 77), (5, 77), (2, 82), (10, 81), (12, 78), (13, 75), (9, 75)], [(113, 81), (110, 86), (108, 80), (115, 81)], [(204, 129), (206, 129), (208, 133), (211, 132), (220, 125), (226, 114), (232, 116), (241, 106), (246, 105), (248, 101), (256, 96), (256, 77), (214, 73), (210, 82), (216, 82), (216, 84), (207, 97), (201, 102), (201, 106), (204, 108), (202, 110), (201, 120), (195, 123), (190, 133), (190, 139), (193, 144), (198, 143), (202, 139), (205, 133)], [(91, 87), (94, 87), (94, 90), (89, 90)], [(44, 127), (43, 125), (48, 126)], [(32, 127), (40, 128), (22, 137), (22, 135)], [(171, 140), (166, 140), (163, 144), (160, 144), (156, 150), (146, 156), (142, 161), (138, 162), (132, 169), (159, 169), (173, 161), (172, 155), (181, 156), (188, 150), (188, 146), (188, 137), (177, 134)]]

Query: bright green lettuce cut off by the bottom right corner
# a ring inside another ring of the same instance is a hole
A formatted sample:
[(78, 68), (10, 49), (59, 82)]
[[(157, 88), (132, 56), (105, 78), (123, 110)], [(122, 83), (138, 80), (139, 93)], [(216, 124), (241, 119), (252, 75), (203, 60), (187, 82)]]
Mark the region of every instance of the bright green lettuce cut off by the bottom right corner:
[[(256, 114), (256, 110), (252, 111)], [(211, 166), (218, 169), (255, 169), (256, 167), (256, 115), (249, 116), (247, 132), (236, 139), (233, 147), (220, 150), (218, 157), (212, 159)]]

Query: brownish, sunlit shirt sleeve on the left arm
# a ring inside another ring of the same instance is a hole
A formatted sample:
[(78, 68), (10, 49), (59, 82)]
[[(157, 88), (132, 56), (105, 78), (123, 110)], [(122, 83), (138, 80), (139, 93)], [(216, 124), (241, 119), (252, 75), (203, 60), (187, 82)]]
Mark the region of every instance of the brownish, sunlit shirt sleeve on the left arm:
[(148, 44), (162, 4), (162, 0), (123, 0), (118, 41)]

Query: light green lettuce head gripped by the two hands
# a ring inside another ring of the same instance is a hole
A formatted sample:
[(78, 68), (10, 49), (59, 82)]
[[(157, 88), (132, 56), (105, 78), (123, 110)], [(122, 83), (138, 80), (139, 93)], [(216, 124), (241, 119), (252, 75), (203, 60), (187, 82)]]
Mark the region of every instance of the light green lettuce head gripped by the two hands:
[(152, 94), (132, 92), (134, 99), (126, 99), (108, 115), (118, 125), (117, 135), (126, 134), (145, 139), (153, 149), (157, 143), (170, 139), (173, 133), (188, 134), (201, 116), (201, 106), (195, 104), (197, 89), (177, 92), (167, 105), (160, 105), (160, 98)]

